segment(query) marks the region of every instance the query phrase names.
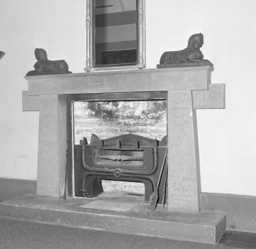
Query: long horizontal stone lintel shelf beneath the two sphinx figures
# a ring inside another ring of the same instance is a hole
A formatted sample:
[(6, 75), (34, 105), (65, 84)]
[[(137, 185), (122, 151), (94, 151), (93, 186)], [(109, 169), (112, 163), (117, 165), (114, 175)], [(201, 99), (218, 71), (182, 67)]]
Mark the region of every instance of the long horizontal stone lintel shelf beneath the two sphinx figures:
[(207, 90), (212, 66), (25, 77), (28, 95)]

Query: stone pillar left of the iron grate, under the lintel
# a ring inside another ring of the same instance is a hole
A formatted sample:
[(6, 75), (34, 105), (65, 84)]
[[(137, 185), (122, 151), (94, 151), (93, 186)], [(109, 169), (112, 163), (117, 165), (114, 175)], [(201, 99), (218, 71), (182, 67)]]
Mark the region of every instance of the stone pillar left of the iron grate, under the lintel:
[(40, 98), (37, 195), (61, 197), (66, 170), (66, 96)]

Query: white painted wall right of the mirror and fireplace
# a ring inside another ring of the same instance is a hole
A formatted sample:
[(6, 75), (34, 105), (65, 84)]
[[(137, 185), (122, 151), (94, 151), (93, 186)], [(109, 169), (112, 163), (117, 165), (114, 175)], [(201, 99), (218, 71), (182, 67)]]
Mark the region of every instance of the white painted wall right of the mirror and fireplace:
[[(202, 190), (256, 195), (256, 1), (147, 1), (147, 66), (203, 33), (203, 54), (226, 84), (225, 110), (198, 110)], [(154, 18), (150, 18), (154, 17)]]

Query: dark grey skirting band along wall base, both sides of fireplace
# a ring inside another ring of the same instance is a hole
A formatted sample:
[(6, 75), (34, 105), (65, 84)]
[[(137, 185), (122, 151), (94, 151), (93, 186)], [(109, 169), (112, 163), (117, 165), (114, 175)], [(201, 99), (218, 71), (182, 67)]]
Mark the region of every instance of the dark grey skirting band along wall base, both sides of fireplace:
[[(0, 201), (36, 194), (36, 180), (0, 178)], [(227, 229), (256, 233), (256, 196), (228, 193), (201, 193), (202, 208), (219, 210), (227, 215)]]

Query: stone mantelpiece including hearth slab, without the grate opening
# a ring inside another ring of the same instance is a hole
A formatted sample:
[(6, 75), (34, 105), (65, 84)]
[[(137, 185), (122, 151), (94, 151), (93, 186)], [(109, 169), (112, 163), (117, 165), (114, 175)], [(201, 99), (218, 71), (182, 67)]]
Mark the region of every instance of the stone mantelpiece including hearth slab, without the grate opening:
[[(200, 210), (196, 128), (196, 109), (225, 108), (225, 85), (211, 84), (211, 72), (212, 66), (193, 66), (27, 77), (23, 110), (40, 111), (37, 195), (5, 200), (0, 204), (0, 215), (128, 235), (218, 243), (225, 233), (226, 215), (218, 210)], [(166, 96), (168, 103), (167, 206), (162, 209), (159, 205), (153, 211), (141, 196), (123, 193), (64, 199), (70, 99), (77, 94), (86, 95), (86, 99), (131, 94), (138, 99), (152, 93)]]

